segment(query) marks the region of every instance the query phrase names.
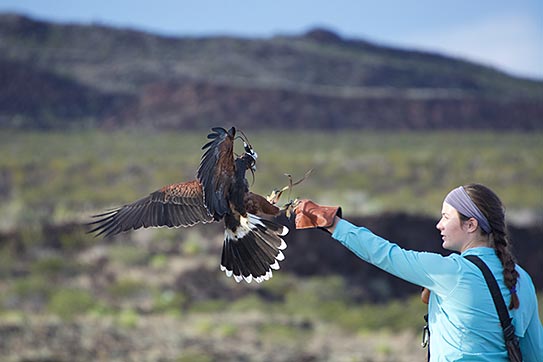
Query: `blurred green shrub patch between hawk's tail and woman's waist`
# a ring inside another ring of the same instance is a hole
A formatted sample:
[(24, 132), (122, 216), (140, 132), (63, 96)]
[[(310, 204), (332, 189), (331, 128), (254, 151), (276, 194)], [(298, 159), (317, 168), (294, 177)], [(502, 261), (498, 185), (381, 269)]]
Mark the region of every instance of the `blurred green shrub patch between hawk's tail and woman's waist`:
[(289, 320), (299, 321), (298, 324), (302, 325), (324, 321), (350, 333), (419, 330), (424, 324), (422, 316), (427, 307), (420, 302), (419, 296), (388, 304), (355, 302), (347, 295), (348, 286), (339, 276), (312, 277), (300, 282), (292, 276), (280, 274), (274, 276), (269, 283), (263, 284), (262, 288), (269, 291), (276, 289), (278, 285), (282, 286), (284, 299), (269, 302), (249, 295), (228, 306), (221, 306), (220, 310), (230, 313), (259, 311), (273, 316), (282, 315), (289, 317)]

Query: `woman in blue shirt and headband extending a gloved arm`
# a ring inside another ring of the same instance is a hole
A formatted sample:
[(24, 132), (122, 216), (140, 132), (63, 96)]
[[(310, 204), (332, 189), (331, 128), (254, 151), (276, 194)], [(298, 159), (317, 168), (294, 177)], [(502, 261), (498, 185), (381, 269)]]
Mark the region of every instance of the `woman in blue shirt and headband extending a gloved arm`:
[(543, 327), (535, 288), (528, 273), (515, 264), (505, 226), (505, 211), (496, 194), (479, 185), (452, 190), (443, 202), (443, 247), (457, 252), (404, 250), (364, 227), (341, 219), (339, 207), (302, 200), (295, 209), (296, 228), (320, 227), (361, 259), (399, 278), (430, 290), (428, 323), (431, 361), (508, 361), (494, 302), (475, 264), (477, 255), (496, 278), (524, 361), (543, 361)]

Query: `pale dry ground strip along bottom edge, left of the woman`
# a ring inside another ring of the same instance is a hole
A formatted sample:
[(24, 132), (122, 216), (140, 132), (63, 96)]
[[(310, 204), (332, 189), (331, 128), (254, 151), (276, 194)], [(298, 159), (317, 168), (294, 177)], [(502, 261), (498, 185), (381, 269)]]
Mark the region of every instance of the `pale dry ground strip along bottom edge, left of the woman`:
[(6, 362), (422, 361), (414, 332), (348, 335), (333, 326), (239, 315), (138, 316), (135, 321), (45, 316), (0, 323)]

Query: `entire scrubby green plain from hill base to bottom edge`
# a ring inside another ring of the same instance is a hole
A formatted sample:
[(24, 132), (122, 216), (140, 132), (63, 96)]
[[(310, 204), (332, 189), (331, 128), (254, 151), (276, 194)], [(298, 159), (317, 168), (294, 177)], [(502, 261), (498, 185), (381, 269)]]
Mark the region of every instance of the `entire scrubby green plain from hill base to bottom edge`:
[[(278, 273), (259, 286), (236, 284), (217, 270), (219, 229), (213, 236), (199, 228), (160, 229), (102, 240), (77, 226), (94, 212), (193, 179), (205, 134), (0, 134), (0, 355), (422, 359), (425, 306), (417, 296), (363, 303), (337, 275)], [(529, 218), (543, 210), (542, 134), (248, 136), (259, 153), (252, 188), (260, 193), (285, 185), (284, 173), (296, 179), (313, 169), (292, 197), (341, 204), (346, 214), (401, 210), (437, 218), (444, 194), (473, 181), (494, 188), (513, 214)]]

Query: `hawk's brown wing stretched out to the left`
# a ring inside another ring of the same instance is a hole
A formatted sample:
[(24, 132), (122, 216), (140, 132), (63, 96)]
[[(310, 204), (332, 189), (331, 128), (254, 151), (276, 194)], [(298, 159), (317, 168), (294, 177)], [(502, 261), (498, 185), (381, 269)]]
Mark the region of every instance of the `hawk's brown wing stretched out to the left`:
[(118, 209), (95, 215), (90, 233), (114, 235), (150, 226), (192, 226), (213, 221), (203, 202), (197, 180), (165, 186), (147, 197)]

